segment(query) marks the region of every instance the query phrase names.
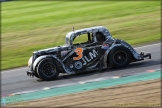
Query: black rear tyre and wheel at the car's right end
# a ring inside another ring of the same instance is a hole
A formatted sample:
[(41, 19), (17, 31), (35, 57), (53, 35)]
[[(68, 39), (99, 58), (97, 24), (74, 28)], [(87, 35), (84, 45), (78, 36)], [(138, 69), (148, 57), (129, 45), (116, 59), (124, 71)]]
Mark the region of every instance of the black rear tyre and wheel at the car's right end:
[(108, 62), (112, 68), (126, 67), (127, 65), (129, 65), (130, 61), (131, 53), (127, 48), (119, 46), (114, 47), (110, 51)]

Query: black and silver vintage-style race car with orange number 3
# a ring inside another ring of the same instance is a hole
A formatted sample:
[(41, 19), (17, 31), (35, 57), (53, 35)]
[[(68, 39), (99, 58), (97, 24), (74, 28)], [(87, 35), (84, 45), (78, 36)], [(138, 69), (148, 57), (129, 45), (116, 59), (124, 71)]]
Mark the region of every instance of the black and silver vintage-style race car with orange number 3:
[[(83, 35), (85, 42), (74, 43)], [(112, 38), (104, 26), (73, 28), (65, 38), (62, 46), (34, 51), (28, 61), (27, 75), (50, 81), (56, 79), (59, 73), (123, 68), (146, 57), (151, 59), (151, 53), (138, 54), (124, 40)]]

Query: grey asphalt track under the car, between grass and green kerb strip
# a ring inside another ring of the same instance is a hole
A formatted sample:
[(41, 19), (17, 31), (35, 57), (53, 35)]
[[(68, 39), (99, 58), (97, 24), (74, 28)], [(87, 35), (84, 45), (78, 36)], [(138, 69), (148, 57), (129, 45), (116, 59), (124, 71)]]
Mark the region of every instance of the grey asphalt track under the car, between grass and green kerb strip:
[(30, 78), (26, 75), (26, 70), (28, 70), (28, 67), (2, 71), (1, 95), (46, 89), (48, 87), (60, 85), (69, 85), (104, 77), (123, 77), (161, 69), (161, 43), (137, 47), (135, 50), (138, 53), (141, 51), (151, 52), (152, 59), (145, 59), (143, 61), (134, 62), (131, 63), (128, 67), (122, 69), (107, 69), (105, 71), (93, 71), (74, 75), (60, 74), (58, 79), (54, 81), (42, 81), (35, 77)]

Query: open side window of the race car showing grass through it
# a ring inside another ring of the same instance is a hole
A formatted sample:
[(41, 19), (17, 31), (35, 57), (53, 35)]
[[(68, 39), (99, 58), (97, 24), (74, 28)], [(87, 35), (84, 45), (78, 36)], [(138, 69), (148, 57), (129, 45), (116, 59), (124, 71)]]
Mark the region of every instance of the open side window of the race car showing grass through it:
[(77, 43), (86, 43), (88, 42), (88, 35), (87, 34), (82, 34), (80, 36), (77, 36), (74, 40), (73, 40), (73, 44), (77, 44)]

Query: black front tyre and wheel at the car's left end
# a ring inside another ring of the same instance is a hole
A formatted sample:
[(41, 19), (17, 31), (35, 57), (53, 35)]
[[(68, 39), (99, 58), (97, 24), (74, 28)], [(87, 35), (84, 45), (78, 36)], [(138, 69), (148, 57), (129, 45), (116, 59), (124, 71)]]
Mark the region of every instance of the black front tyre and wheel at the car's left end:
[(51, 81), (58, 77), (59, 71), (53, 59), (43, 59), (37, 67), (37, 74), (45, 81)]

